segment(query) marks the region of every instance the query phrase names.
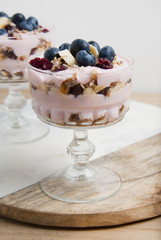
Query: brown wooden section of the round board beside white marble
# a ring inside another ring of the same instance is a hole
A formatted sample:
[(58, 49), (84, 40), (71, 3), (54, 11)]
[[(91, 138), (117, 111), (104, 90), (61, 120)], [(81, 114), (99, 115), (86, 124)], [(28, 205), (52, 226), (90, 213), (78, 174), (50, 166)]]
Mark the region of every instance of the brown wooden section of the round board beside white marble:
[(161, 215), (161, 134), (103, 156), (95, 163), (118, 172), (121, 190), (96, 203), (72, 204), (34, 184), (0, 199), (0, 215), (61, 227), (114, 226)]

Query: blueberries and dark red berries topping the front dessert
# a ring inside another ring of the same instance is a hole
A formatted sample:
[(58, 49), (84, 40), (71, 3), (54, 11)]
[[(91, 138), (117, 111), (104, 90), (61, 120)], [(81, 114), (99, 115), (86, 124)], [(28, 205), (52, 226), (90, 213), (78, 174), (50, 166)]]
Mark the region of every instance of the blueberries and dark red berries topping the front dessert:
[[(93, 45), (98, 51), (98, 57), (96, 58), (90, 51), (90, 45)], [(73, 57), (76, 59), (78, 66), (96, 66), (103, 69), (111, 69), (113, 68), (113, 60), (115, 58), (115, 51), (111, 46), (105, 46), (100, 48), (99, 44), (95, 41), (85, 41), (83, 39), (76, 39), (71, 44), (63, 43), (59, 48), (48, 48), (44, 53), (44, 58), (49, 62), (53, 61), (53, 59), (59, 58), (59, 51), (69, 50)], [(45, 60), (41, 60), (46, 63)], [(32, 60), (33, 61), (33, 60)], [(35, 63), (31, 61), (31, 65), (36, 66)], [(49, 64), (48, 64), (49, 66)], [(38, 60), (37, 68), (40, 67), (40, 63)], [(40, 69), (42, 69), (40, 67)], [(44, 69), (47, 70), (46, 64), (44, 64)], [(50, 70), (50, 69), (49, 69)], [(64, 70), (64, 68), (59, 68), (59, 71)]]

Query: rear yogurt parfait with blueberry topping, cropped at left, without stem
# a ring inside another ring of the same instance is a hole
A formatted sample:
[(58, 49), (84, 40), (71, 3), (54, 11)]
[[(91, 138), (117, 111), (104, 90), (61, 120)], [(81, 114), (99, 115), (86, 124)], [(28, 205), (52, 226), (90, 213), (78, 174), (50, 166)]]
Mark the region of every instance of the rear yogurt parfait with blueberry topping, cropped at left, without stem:
[(21, 13), (0, 12), (0, 79), (27, 78), (30, 55), (44, 52), (54, 42), (53, 28)]

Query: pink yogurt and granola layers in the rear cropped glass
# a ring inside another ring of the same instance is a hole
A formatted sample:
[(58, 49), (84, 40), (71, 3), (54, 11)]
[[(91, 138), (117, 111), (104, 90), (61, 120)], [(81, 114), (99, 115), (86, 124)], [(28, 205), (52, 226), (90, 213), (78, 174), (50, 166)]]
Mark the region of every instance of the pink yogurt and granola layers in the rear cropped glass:
[(53, 30), (49, 32), (18, 33), (17, 39), (8, 37), (7, 34), (0, 36), (0, 77), (12, 78), (12, 75), (21, 73), (21, 78), (27, 78), (27, 60), (32, 54), (42, 52), (53, 46)]

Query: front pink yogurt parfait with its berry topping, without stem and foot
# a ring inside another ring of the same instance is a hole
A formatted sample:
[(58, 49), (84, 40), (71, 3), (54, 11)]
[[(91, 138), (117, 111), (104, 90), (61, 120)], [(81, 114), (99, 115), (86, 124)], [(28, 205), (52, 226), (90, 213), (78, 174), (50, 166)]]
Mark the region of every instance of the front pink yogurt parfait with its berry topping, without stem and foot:
[(29, 63), (32, 106), (45, 122), (98, 126), (123, 118), (132, 86), (130, 57), (111, 46), (76, 39), (49, 48)]

